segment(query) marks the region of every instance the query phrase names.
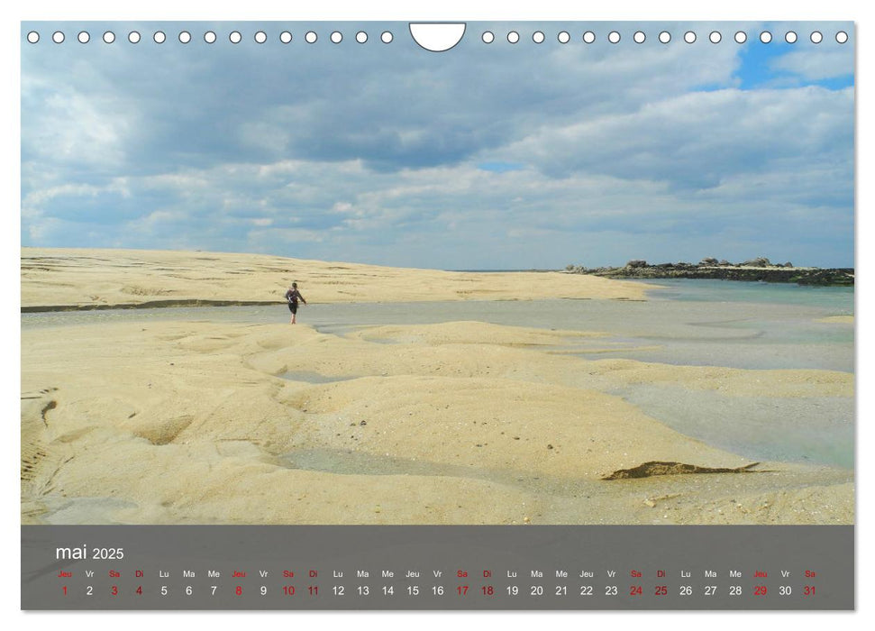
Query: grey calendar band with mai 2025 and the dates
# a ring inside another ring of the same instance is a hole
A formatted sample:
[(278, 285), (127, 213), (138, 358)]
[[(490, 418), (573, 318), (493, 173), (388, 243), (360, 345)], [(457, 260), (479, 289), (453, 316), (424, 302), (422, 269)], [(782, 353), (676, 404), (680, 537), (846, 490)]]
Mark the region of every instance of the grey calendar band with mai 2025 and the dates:
[[(22, 608), (852, 609), (853, 535), (853, 526), (22, 526)], [(121, 559), (95, 558), (119, 549)]]

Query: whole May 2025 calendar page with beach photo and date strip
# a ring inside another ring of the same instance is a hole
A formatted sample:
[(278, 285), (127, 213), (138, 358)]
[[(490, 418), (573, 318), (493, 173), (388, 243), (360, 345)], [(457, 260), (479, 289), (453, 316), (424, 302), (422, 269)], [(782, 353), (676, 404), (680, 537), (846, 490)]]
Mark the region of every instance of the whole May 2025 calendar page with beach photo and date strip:
[(23, 22), (27, 610), (849, 610), (851, 22)]

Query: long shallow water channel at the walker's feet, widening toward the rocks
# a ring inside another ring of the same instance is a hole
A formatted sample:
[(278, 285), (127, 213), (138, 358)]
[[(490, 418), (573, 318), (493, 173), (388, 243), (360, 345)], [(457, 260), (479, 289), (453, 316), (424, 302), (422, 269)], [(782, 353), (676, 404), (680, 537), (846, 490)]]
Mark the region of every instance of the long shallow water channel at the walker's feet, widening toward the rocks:
[[(326, 334), (347, 334), (362, 326), (460, 320), (598, 331), (609, 336), (578, 348), (581, 356), (747, 369), (853, 371), (853, 326), (816, 322), (829, 315), (852, 314), (852, 291), (795, 285), (750, 287), (761, 285), (765, 284), (673, 280), (670, 289), (653, 290), (652, 299), (643, 302), (553, 299), (314, 304), (303, 307), (298, 319)], [(725, 300), (712, 299), (716, 297)], [(22, 326), (160, 320), (279, 324), (287, 323), (287, 318), (284, 305), (205, 306), (23, 314)], [(587, 346), (596, 352), (588, 352)], [(606, 350), (610, 350), (607, 355)]]

